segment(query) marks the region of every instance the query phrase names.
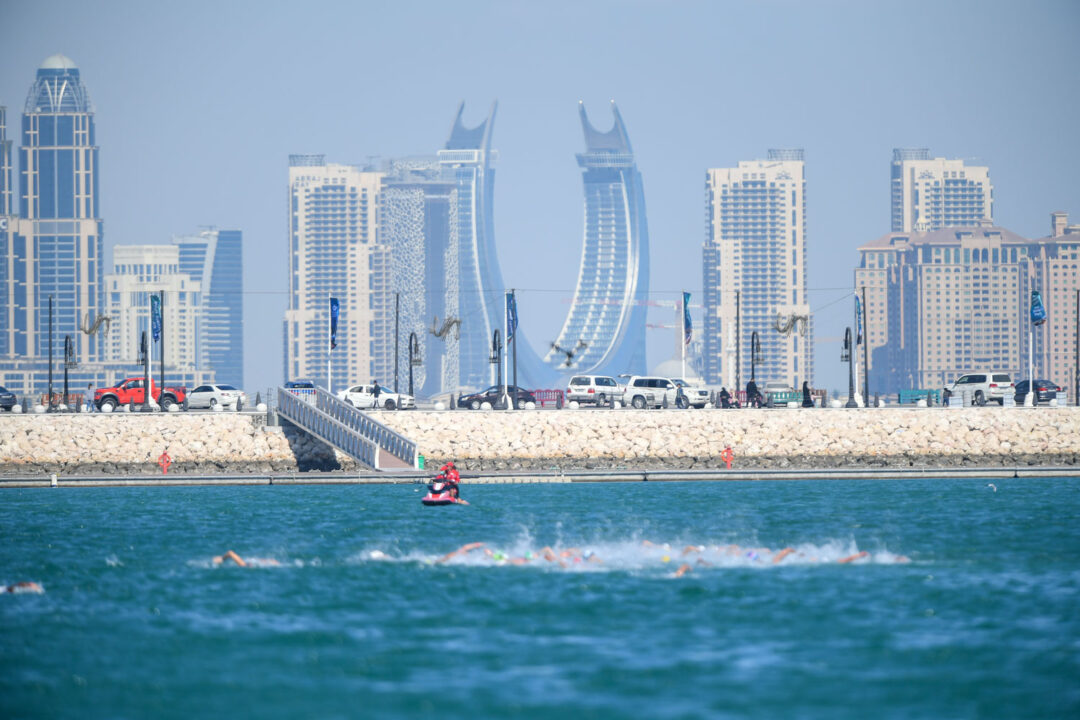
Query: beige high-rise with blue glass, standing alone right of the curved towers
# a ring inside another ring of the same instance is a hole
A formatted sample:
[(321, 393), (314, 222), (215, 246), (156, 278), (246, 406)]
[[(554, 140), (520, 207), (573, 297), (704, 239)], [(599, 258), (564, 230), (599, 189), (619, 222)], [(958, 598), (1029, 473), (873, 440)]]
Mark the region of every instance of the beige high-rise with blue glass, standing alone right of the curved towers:
[(802, 150), (707, 169), (705, 222), (705, 382), (812, 383)]

